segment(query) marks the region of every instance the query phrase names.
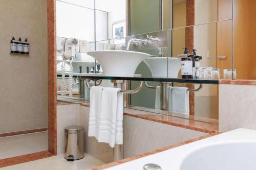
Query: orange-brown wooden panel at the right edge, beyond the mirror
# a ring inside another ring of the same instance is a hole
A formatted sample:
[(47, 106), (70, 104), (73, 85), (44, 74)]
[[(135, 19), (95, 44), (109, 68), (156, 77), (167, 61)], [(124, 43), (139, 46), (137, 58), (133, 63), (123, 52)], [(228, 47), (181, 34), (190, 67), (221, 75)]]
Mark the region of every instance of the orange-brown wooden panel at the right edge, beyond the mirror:
[(234, 68), (238, 79), (256, 79), (255, 8), (255, 0), (234, 0)]

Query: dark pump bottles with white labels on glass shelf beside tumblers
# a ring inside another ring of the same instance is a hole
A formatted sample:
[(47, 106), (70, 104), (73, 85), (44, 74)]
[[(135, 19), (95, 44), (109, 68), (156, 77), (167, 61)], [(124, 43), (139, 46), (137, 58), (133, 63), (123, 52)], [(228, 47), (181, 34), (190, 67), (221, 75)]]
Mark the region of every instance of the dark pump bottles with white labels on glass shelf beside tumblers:
[(193, 50), (193, 54), (189, 54), (186, 47), (184, 47), (184, 54), (178, 55), (181, 59), (181, 78), (182, 79), (193, 79), (194, 70), (200, 67), (201, 56), (197, 56), (196, 50)]

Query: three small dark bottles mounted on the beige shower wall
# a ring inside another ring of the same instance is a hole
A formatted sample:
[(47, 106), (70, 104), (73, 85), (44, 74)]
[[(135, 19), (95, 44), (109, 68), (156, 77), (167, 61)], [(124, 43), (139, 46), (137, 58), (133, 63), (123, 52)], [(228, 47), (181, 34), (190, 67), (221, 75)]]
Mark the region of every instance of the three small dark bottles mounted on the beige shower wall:
[(29, 54), (29, 42), (26, 38), (25, 41), (22, 41), (22, 38), (19, 38), (18, 41), (15, 40), (15, 37), (12, 37), (10, 42), (10, 53), (11, 54)]

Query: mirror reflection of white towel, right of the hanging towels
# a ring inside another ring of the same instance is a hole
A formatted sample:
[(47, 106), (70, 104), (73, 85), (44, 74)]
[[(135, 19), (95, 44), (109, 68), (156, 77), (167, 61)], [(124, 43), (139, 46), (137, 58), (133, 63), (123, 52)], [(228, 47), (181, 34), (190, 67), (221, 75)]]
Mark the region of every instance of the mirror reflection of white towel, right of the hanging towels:
[(189, 91), (187, 87), (169, 88), (169, 111), (189, 114)]

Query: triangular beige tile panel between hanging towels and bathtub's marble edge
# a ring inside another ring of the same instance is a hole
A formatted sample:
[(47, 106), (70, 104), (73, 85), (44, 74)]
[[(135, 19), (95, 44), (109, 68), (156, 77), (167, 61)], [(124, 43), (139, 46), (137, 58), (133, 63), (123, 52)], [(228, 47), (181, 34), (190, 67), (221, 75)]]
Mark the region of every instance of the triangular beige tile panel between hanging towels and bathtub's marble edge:
[(194, 139), (206, 133), (124, 116), (124, 158)]

